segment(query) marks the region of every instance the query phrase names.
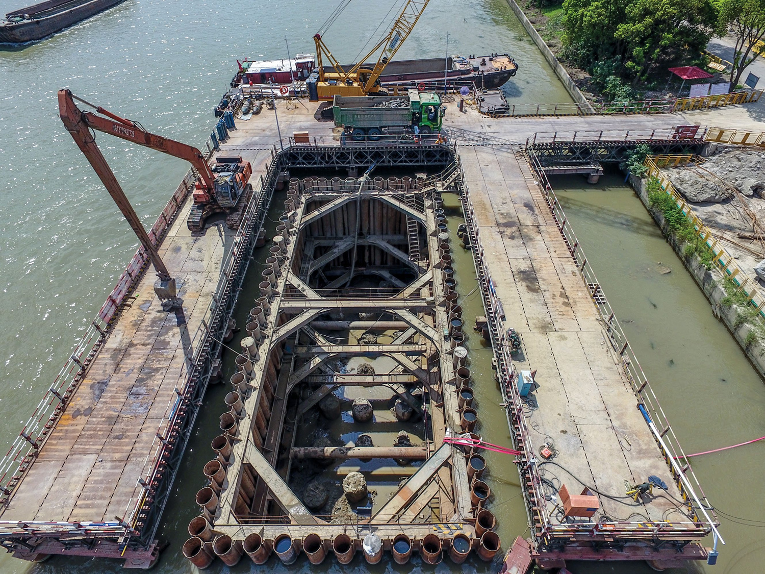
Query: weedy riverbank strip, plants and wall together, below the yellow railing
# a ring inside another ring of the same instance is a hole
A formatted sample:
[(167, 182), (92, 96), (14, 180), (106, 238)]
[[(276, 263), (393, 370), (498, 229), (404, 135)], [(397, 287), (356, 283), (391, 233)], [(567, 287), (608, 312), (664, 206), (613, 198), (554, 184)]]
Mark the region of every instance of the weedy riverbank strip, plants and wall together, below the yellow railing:
[[(760, 337), (760, 329), (753, 323), (753, 321), (760, 321), (760, 319), (752, 315), (751, 310), (753, 308), (747, 304), (747, 298), (745, 296), (744, 298), (736, 297), (737, 289), (731, 286), (730, 279), (726, 281), (719, 269), (716, 267), (707, 269), (695, 254), (685, 255), (685, 243), (672, 233), (669, 223), (662, 213), (651, 206), (646, 189), (646, 179), (630, 175), (630, 184), (653, 220), (661, 228), (672, 249), (685, 265), (685, 269), (688, 269), (698, 287), (702, 289), (711, 303), (715, 317), (728, 328), (760, 377), (765, 378), (765, 344)], [(747, 318), (750, 320), (747, 321)]]

